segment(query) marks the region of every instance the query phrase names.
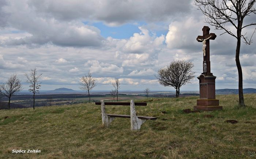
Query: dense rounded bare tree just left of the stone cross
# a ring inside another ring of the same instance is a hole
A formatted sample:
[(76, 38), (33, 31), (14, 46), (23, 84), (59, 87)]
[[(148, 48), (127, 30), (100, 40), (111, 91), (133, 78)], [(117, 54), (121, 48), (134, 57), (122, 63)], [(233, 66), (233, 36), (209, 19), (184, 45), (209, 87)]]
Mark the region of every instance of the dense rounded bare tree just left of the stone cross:
[(195, 72), (192, 72), (194, 64), (191, 61), (178, 60), (173, 61), (166, 67), (158, 70), (158, 75), (155, 76), (158, 82), (163, 86), (172, 86), (176, 89), (176, 97), (180, 95), (180, 87), (190, 83), (195, 77)]

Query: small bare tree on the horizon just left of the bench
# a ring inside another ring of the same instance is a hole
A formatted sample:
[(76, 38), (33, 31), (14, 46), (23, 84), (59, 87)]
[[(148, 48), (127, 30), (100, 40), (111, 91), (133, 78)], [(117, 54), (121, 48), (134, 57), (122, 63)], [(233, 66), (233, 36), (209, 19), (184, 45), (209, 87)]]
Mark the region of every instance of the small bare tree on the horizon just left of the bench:
[(95, 78), (88, 72), (87, 75), (83, 76), (79, 82), (81, 90), (87, 90), (89, 95), (89, 103), (91, 102), (90, 90), (96, 86)]

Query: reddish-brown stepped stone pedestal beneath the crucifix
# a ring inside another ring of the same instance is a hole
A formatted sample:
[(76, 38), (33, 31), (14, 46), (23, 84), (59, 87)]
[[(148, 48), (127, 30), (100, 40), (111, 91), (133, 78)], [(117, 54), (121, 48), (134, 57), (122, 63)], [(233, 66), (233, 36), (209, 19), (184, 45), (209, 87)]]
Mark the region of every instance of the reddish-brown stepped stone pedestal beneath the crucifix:
[(199, 77), (200, 99), (196, 100), (194, 110), (214, 111), (222, 110), (219, 100), (215, 99), (215, 79), (212, 73), (202, 73)]

